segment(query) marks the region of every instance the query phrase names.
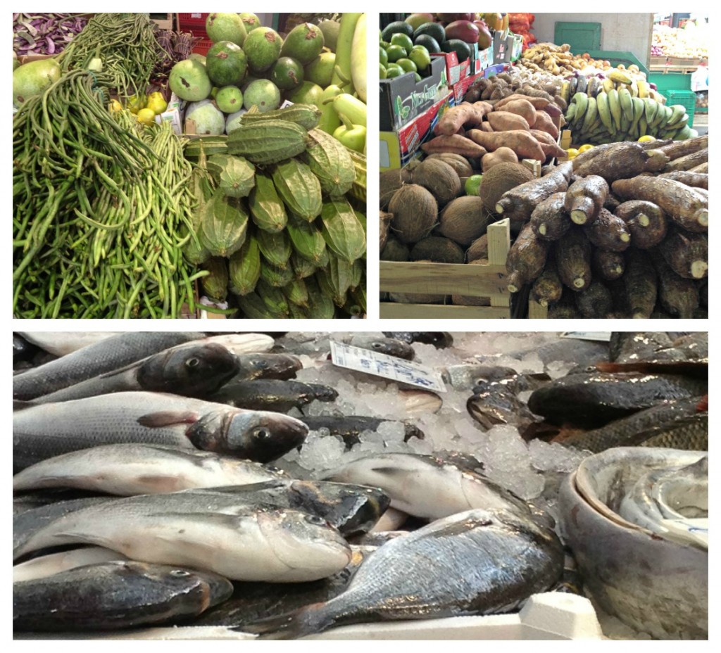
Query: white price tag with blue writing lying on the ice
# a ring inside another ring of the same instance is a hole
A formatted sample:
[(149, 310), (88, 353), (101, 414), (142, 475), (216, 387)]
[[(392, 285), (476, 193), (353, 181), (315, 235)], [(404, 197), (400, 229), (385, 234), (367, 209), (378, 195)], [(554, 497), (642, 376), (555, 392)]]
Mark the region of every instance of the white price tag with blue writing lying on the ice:
[(395, 356), (371, 352), (371, 350), (344, 345), (342, 342), (330, 343), (330, 355), (333, 365), (357, 372), (366, 372), (382, 376), (398, 383), (408, 383), (434, 392), (446, 392), (441, 375), (423, 365), (412, 363)]

